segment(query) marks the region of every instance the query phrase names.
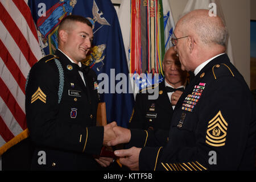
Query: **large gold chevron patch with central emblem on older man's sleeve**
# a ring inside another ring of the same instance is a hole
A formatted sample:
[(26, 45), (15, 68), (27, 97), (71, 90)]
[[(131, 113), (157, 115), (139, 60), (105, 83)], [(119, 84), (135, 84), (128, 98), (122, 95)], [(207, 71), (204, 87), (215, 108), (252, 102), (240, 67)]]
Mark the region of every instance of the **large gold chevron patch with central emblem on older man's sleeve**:
[(208, 123), (205, 142), (213, 147), (225, 146), (227, 129), (228, 123), (223, 118), (221, 111), (218, 111)]

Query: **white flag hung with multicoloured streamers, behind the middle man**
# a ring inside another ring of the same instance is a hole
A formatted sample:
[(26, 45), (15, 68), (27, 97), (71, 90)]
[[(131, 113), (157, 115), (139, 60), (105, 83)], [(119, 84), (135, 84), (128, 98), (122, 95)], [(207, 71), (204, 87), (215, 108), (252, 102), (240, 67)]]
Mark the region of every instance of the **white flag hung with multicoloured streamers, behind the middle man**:
[(135, 86), (142, 89), (155, 83), (136, 81), (141, 80), (141, 73), (158, 73), (159, 79), (156, 81), (163, 81), (162, 61), (164, 53), (172, 46), (170, 39), (175, 28), (169, 2), (123, 1), (118, 12), (129, 72), (136, 74), (133, 76), (138, 83)]

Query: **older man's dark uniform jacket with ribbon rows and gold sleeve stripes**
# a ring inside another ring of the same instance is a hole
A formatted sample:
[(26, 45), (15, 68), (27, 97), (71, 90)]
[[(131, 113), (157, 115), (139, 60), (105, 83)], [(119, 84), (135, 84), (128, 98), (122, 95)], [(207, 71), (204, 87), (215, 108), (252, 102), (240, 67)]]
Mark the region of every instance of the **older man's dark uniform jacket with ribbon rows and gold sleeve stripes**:
[[(164, 171), (254, 170), (256, 109), (242, 75), (226, 54), (210, 61), (178, 101), (166, 146), (131, 130), (130, 143), (146, 147), (139, 169)], [(134, 135), (134, 136), (133, 136)], [(138, 144), (139, 145), (139, 144)]]

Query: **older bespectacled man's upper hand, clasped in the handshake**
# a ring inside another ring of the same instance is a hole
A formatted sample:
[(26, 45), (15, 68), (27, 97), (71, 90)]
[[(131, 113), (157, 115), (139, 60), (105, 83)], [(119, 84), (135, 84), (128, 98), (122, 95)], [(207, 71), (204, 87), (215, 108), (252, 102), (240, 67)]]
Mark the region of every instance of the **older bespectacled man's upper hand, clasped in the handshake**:
[(113, 128), (115, 137), (113, 140), (108, 142), (108, 146), (116, 146), (120, 143), (128, 143), (131, 139), (131, 131), (124, 127), (116, 126)]

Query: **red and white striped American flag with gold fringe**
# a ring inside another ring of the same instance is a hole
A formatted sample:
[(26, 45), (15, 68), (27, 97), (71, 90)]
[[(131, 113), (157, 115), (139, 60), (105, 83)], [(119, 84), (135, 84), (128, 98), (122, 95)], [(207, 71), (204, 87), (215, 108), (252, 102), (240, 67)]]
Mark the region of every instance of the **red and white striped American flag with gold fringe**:
[(26, 78), (41, 57), (27, 1), (0, 0), (0, 156), (28, 137)]

